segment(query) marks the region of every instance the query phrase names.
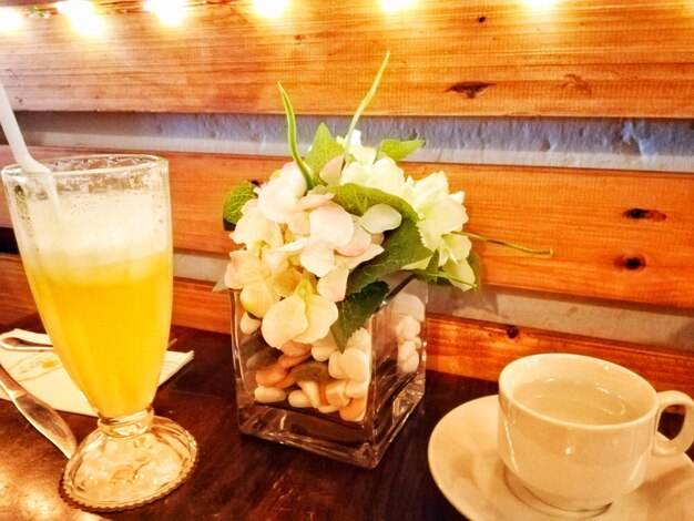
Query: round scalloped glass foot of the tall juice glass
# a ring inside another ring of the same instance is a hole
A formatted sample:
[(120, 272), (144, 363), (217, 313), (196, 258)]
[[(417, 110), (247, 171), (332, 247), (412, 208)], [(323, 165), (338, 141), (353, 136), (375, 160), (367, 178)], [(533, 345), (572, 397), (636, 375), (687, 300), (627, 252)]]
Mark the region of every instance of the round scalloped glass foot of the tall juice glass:
[(177, 423), (153, 417), (133, 436), (89, 435), (68, 462), (62, 479), (67, 499), (88, 510), (125, 510), (174, 490), (197, 462), (195, 439)]

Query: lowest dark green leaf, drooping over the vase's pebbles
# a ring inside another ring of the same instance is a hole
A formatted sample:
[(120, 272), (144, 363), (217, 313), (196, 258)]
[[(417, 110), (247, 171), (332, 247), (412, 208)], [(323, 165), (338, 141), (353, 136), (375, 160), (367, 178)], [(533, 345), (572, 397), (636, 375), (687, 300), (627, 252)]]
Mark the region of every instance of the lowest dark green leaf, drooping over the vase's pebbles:
[(384, 282), (376, 282), (337, 303), (338, 318), (330, 327), (330, 331), (340, 353), (345, 350), (349, 337), (376, 313), (386, 295), (388, 295), (388, 285)]

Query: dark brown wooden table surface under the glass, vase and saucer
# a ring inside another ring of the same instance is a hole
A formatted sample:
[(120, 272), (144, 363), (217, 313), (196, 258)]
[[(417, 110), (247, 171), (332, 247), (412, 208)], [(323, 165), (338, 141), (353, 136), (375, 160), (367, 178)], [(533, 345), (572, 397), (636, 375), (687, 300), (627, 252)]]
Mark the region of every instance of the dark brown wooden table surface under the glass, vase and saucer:
[[(20, 326), (27, 324), (31, 320)], [(73, 509), (58, 490), (63, 456), (12, 403), (0, 400), (0, 519), (460, 519), (429, 472), (429, 437), (458, 405), (496, 394), (496, 382), (429, 371), (422, 402), (381, 463), (363, 470), (241, 435), (229, 337), (187, 328), (174, 328), (173, 336), (176, 349), (194, 349), (195, 358), (160, 388), (154, 407), (198, 441), (192, 478), (135, 510), (96, 515)], [(95, 428), (94, 418), (63, 416), (78, 440)]]

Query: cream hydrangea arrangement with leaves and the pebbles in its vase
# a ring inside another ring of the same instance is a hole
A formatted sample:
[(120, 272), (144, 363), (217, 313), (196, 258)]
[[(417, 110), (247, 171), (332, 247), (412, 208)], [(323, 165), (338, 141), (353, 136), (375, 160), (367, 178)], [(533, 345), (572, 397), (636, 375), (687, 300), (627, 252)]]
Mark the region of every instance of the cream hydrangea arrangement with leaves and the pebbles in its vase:
[[(361, 143), (356, 125), (387, 61), (346, 135), (335, 137), (320, 124), (304, 157), (279, 85), (294, 161), (226, 198), (224, 221), (242, 247), (231, 253), (224, 284), (243, 306), (242, 333), (262, 337), (247, 360), (256, 401), (288, 399), (292, 407), (363, 420), (372, 377), (372, 338), (363, 326), (397, 293), (385, 279), (405, 273), (405, 283), (478, 285), (470, 237), (483, 237), (463, 231), (463, 193), (450, 192), (443, 172), (416, 181), (398, 166), (423, 141)], [(423, 303), (405, 298), (399, 308), (407, 313), (396, 325), (398, 370), (414, 374), (421, 370)]]

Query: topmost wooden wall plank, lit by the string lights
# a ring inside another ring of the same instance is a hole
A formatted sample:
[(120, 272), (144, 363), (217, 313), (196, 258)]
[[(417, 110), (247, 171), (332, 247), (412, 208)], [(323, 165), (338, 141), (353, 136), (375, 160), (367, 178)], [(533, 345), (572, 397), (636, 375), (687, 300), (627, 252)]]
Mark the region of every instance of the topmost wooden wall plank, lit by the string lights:
[(400, 13), (305, 0), (272, 20), (216, 1), (177, 28), (137, 2), (96, 3), (99, 38), (53, 16), (0, 39), (17, 110), (279, 113), (282, 81), (299, 113), (350, 114), (390, 50), (372, 114), (694, 115), (694, 11), (681, 0), (440, 0)]

